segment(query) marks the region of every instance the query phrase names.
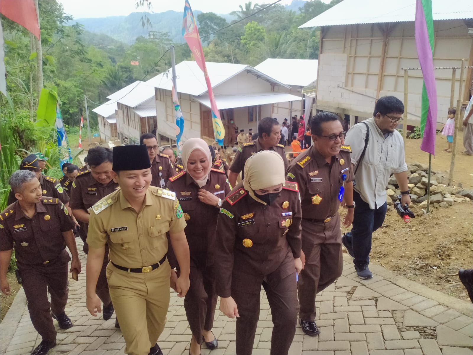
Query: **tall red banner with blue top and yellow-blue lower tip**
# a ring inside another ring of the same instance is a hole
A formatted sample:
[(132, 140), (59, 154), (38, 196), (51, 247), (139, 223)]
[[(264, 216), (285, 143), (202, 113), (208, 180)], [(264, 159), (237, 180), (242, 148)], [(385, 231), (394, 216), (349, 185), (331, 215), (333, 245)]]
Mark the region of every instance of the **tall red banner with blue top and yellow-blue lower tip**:
[(189, 0), (186, 0), (184, 5), (182, 35), (184, 36), (187, 45), (194, 55), (195, 62), (204, 73), (207, 91), (209, 92), (210, 109), (212, 110), (213, 134), (215, 136), (215, 140), (220, 146), (222, 146), (223, 138), (225, 137), (225, 128), (223, 127), (222, 120), (220, 119), (219, 109), (215, 103), (215, 97), (213, 95), (212, 85), (210, 84), (209, 73), (207, 72), (204, 53), (202, 51), (201, 37), (199, 36), (199, 30), (197, 29), (197, 24), (195, 23), (194, 14), (192, 12), (191, 5), (189, 4)]

